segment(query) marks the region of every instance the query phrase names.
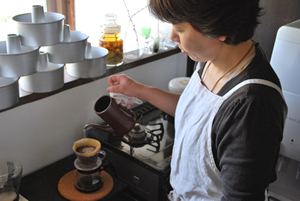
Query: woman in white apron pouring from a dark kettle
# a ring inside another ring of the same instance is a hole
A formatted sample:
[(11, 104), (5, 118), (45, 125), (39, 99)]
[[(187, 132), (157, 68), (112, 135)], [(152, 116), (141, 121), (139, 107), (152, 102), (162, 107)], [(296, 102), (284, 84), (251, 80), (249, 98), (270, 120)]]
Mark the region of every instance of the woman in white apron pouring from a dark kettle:
[(259, 0), (150, 0), (149, 9), (173, 24), (171, 39), (198, 62), (188, 86), (180, 96), (115, 75), (107, 90), (175, 116), (169, 199), (265, 200), (287, 107), (278, 77), (251, 40)]

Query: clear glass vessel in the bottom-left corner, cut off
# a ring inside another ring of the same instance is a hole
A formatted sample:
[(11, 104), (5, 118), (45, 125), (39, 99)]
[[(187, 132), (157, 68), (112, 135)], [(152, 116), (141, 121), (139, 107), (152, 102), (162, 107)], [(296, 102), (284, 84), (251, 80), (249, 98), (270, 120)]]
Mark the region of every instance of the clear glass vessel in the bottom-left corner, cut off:
[(18, 201), (22, 165), (12, 159), (0, 159), (0, 200)]

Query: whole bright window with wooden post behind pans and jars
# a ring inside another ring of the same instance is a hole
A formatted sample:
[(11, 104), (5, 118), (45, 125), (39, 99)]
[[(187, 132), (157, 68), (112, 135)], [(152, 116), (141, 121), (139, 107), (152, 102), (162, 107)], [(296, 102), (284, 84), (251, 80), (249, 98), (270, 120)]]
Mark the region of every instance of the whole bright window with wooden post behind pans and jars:
[[(81, 31), (89, 36), (88, 41), (98, 46), (101, 35), (100, 26), (104, 23), (106, 13), (117, 14), (117, 23), (121, 25), (121, 36), (124, 38), (129, 29), (129, 15), (138, 32), (141, 26), (151, 27), (151, 34), (157, 33), (158, 20), (149, 14), (148, 0), (12, 0), (0, 6), (0, 41), (5, 41), (7, 34), (15, 33), (12, 17), (19, 14), (31, 13), (32, 5), (42, 5), (45, 12), (57, 12), (65, 15), (65, 24), (71, 30)], [(126, 7), (125, 7), (126, 4)], [(171, 25), (159, 24), (160, 29), (171, 30)], [(5, 30), (5, 31), (3, 31)]]

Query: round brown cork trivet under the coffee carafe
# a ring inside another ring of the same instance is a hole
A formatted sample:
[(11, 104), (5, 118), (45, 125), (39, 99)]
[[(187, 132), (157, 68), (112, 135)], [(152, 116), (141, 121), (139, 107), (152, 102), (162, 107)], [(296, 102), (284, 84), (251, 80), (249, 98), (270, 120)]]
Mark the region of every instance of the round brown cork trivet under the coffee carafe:
[(84, 193), (75, 187), (76, 171), (72, 170), (65, 174), (58, 182), (58, 191), (66, 199), (72, 201), (94, 201), (99, 200), (110, 193), (114, 186), (114, 181), (110, 174), (101, 171), (103, 186), (94, 192)]

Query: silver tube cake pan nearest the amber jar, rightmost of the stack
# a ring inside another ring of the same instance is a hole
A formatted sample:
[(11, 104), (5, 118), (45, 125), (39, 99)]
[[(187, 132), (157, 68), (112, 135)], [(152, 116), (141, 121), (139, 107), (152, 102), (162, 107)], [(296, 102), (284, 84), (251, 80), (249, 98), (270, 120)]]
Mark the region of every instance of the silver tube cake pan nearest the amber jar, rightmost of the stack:
[(86, 47), (85, 59), (77, 63), (68, 63), (67, 73), (72, 77), (95, 78), (106, 73), (108, 50), (102, 47)]

